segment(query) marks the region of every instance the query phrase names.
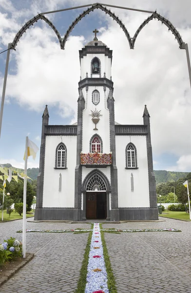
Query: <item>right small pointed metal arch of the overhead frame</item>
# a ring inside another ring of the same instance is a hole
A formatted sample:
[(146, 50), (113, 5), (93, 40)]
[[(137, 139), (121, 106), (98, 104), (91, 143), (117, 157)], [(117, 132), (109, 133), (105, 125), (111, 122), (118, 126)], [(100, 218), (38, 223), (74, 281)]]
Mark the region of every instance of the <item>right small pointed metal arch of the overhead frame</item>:
[(152, 21), (153, 19), (158, 19), (158, 21), (161, 21), (162, 23), (164, 23), (169, 30), (172, 31), (172, 34), (175, 36), (177, 42), (179, 43), (179, 48), (180, 49), (185, 49), (185, 43), (183, 42), (179, 32), (175, 29), (175, 27), (172, 25), (171, 21), (168, 21), (166, 18), (160, 16), (160, 14), (154, 12), (151, 16), (149, 16), (145, 21), (143, 21), (143, 23), (141, 23), (141, 25), (139, 26), (139, 28), (136, 30), (133, 40), (132, 40), (132, 45), (134, 47), (134, 43), (136, 41), (136, 38), (138, 36), (138, 34), (140, 33), (140, 31), (143, 29), (143, 27), (149, 23), (149, 21)]

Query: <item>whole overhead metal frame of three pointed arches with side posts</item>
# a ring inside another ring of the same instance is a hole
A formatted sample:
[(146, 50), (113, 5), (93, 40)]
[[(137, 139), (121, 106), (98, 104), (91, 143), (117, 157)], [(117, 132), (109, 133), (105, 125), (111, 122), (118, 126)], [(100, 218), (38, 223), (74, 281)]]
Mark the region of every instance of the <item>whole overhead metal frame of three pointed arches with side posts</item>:
[[(92, 7), (91, 8), (88, 8), (86, 11), (84, 11), (82, 14), (80, 14), (79, 17), (76, 18), (76, 20), (70, 25), (70, 27), (68, 28), (68, 30), (67, 30), (67, 32), (66, 32), (66, 34), (65, 34), (65, 36), (64, 36), (63, 39), (60, 37), (60, 34), (59, 34), (57, 28), (55, 27), (55, 25), (44, 16), (45, 14), (51, 14), (51, 13), (56, 13), (56, 12), (61, 12), (61, 11), (67, 11), (67, 10), (72, 10), (72, 9), (77, 9), (77, 8), (90, 7), (90, 6), (92, 6)], [(115, 13), (111, 12), (111, 10), (108, 10), (106, 8), (106, 6), (113, 7), (113, 8), (119, 8), (119, 9), (125, 9), (125, 10), (132, 10), (132, 11), (137, 11), (137, 12), (152, 13), (152, 15), (150, 17), (148, 17), (147, 20), (143, 21), (143, 23), (139, 26), (139, 28), (135, 32), (133, 39), (131, 39), (129, 32), (126, 29), (125, 25), (122, 23), (122, 21), (120, 21), (118, 19), (118, 17), (115, 16)], [(60, 10), (42, 12), (42, 13), (39, 13), (34, 18), (32, 18), (31, 20), (27, 21), (22, 26), (22, 28), (16, 34), (13, 42), (12, 43), (9, 43), (8, 44), (8, 49), (5, 50), (5, 51), (7, 51), (7, 58), (6, 58), (5, 74), (4, 74), (4, 81), (3, 81), (3, 88), (2, 88), (2, 99), (1, 99), (1, 107), (0, 107), (0, 134), (1, 134), (2, 115), (3, 115), (3, 106), (4, 106), (4, 98), (5, 98), (5, 89), (6, 89), (6, 81), (7, 81), (7, 73), (8, 73), (8, 64), (9, 64), (10, 50), (11, 49), (16, 50), (17, 43), (19, 42), (19, 39), (22, 37), (22, 35), (26, 32), (26, 30), (31, 25), (33, 25), (35, 22), (37, 22), (40, 19), (43, 20), (43, 21), (45, 21), (46, 23), (48, 23), (48, 25), (54, 30), (54, 32), (56, 33), (56, 36), (58, 38), (58, 41), (60, 43), (60, 49), (64, 49), (65, 43), (67, 41), (67, 38), (68, 38), (70, 32), (72, 31), (72, 29), (77, 24), (77, 22), (80, 21), (89, 12), (94, 11), (94, 9), (98, 9), (98, 8), (101, 9), (102, 11), (104, 11), (105, 13), (109, 14), (120, 25), (120, 27), (123, 29), (123, 31), (124, 31), (127, 39), (128, 39), (128, 42), (129, 42), (129, 45), (130, 45), (130, 49), (134, 49), (134, 43), (136, 41), (136, 38), (137, 38), (138, 34), (140, 33), (140, 31), (142, 30), (142, 28), (149, 21), (151, 21), (154, 18), (156, 18), (156, 19), (158, 19), (158, 21), (161, 21), (162, 23), (164, 23), (169, 28), (169, 30), (172, 31), (172, 34), (175, 36), (177, 42), (179, 43), (179, 48), (186, 50), (188, 70), (189, 70), (189, 78), (190, 78), (190, 84), (191, 84), (191, 63), (190, 63), (190, 57), (189, 57), (188, 44), (185, 43), (185, 42), (183, 42), (180, 34), (175, 29), (175, 27), (172, 25), (172, 23), (170, 21), (168, 21), (167, 19), (165, 19), (164, 17), (162, 17), (159, 14), (157, 14), (156, 11), (153, 12), (153, 11), (148, 11), (148, 10), (135, 9), (135, 8), (130, 8), (130, 7), (121, 7), (121, 6), (116, 6), (116, 5), (104, 4), (104, 3), (94, 3), (94, 4), (91, 3), (91, 4), (87, 4), (87, 5), (70, 7), (70, 8), (60, 9)]]

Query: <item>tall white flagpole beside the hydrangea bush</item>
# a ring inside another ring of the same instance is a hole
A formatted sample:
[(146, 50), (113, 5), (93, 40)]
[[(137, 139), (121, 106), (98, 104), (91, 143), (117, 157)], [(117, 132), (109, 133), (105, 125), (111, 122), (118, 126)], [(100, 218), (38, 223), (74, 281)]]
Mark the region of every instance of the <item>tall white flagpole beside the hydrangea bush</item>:
[(26, 136), (25, 146), (25, 163), (24, 163), (24, 188), (23, 188), (23, 212), (22, 212), (22, 257), (25, 258), (26, 253), (26, 183), (27, 183), (27, 150), (28, 136)]

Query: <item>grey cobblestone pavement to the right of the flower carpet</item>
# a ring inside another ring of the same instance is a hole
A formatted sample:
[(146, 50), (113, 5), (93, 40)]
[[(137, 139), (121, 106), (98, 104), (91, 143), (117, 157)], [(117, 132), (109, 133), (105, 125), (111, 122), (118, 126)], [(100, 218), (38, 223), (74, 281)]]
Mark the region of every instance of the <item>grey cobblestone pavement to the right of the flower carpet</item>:
[(164, 220), (103, 225), (182, 231), (105, 233), (118, 293), (191, 293), (191, 222)]

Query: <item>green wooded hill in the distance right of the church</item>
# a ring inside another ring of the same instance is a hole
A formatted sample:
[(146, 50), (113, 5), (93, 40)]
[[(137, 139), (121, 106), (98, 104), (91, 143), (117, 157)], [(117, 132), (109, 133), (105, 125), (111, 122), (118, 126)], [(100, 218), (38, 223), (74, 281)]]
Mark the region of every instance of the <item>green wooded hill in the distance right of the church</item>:
[(162, 182), (174, 182), (182, 177), (186, 177), (188, 174), (189, 172), (154, 170), (156, 185)]

